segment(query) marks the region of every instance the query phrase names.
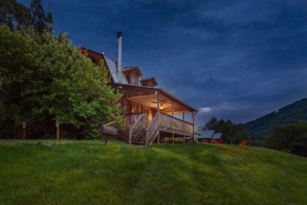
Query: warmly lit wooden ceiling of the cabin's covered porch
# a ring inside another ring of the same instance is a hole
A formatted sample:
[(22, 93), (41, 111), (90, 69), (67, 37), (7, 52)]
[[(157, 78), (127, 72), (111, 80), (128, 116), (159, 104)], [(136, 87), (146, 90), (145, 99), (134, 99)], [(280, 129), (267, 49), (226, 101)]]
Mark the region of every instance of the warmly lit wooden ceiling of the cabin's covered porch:
[[(158, 106), (156, 94), (140, 95), (126, 98), (148, 108), (157, 109)], [(172, 101), (170, 99), (166, 98), (163, 95), (160, 95), (160, 105), (163, 106), (163, 109), (160, 110), (161, 112), (165, 112), (168, 114), (172, 113)], [(174, 103), (174, 113), (182, 113), (183, 110), (185, 110), (185, 113), (191, 112), (187, 108)]]

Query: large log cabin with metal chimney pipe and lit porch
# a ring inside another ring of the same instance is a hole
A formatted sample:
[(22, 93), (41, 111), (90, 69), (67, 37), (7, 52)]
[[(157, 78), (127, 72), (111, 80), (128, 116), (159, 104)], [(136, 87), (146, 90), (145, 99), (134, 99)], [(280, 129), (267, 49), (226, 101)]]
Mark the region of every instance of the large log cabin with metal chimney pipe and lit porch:
[[(105, 54), (81, 47), (81, 53), (94, 63), (103, 59), (110, 71), (112, 86), (123, 94), (122, 106), (126, 107), (126, 129), (129, 143), (151, 145), (162, 137), (194, 137), (194, 115), (198, 112), (168, 91), (157, 88), (156, 79), (144, 77), (138, 66), (121, 65), (121, 32), (118, 37), (117, 61)], [(180, 114), (182, 118), (174, 115)], [(190, 122), (185, 120), (191, 115)]]

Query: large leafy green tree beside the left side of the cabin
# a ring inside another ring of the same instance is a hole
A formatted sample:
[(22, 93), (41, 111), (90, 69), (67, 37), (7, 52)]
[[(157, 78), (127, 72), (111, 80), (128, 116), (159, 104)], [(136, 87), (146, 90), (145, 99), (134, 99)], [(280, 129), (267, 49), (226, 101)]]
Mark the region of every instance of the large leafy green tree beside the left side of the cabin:
[(35, 117), (57, 119), (82, 137), (94, 138), (99, 125), (124, 122), (121, 95), (109, 86), (103, 62), (94, 65), (65, 33), (53, 37), (0, 26), (0, 38), (0, 104), (10, 131), (13, 124)]

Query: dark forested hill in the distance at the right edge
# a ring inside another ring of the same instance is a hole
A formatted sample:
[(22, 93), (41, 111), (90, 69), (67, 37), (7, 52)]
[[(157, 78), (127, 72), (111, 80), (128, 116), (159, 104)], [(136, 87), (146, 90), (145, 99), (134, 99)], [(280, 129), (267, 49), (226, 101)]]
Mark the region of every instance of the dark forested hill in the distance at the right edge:
[(271, 112), (244, 125), (251, 139), (263, 140), (275, 126), (289, 124), (292, 120), (307, 120), (307, 98), (300, 99), (280, 108), (277, 112)]

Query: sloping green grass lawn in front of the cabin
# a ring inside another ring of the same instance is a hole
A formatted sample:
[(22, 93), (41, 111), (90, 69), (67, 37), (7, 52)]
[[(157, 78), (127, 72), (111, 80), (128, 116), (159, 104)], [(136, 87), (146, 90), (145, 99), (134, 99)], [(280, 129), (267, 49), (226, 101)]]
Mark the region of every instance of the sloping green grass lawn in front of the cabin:
[[(44, 143), (52, 144), (47, 146)], [(305, 204), (307, 159), (255, 147), (0, 140), (1, 204)]]

